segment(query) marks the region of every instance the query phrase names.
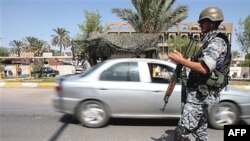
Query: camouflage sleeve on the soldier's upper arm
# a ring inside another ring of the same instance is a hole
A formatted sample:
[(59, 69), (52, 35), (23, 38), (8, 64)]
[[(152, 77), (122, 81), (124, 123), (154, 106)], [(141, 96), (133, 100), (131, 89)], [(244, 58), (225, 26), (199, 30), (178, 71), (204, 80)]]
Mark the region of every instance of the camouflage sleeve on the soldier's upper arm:
[(200, 61), (209, 71), (212, 71), (217, 67), (218, 63), (223, 62), (226, 52), (226, 42), (222, 38), (216, 37), (211, 40), (208, 46), (202, 51), (203, 58), (201, 58)]

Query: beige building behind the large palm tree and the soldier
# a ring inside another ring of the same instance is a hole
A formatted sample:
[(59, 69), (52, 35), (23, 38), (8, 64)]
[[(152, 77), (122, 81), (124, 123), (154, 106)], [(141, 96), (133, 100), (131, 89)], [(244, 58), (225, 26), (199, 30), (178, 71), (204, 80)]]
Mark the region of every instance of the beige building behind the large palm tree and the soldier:
[[(219, 31), (225, 33), (229, 37), (230, 43), (232, 42), (232, 23), (222, 23), (219, 27)], [(133, 34), (136, 33), (133, 27), (127, 22), (112, 22), (108, 23), (105, 28), (106, 33), (108, 34)], [(160, 41), (157, 45), (161, 51), (158, 55), (160, 59), (165, 59), (164, 55), (168, 53), (168, 44), (167, 40), (173, 36), (180, 35), (183, 38), (188, 38), (193, 36), (200, 39), (201, 29), (198, 23), (195, 22), (183, 22), (178, 25), (172, 26), (166, 31), (162, 31), (160, 36)]]

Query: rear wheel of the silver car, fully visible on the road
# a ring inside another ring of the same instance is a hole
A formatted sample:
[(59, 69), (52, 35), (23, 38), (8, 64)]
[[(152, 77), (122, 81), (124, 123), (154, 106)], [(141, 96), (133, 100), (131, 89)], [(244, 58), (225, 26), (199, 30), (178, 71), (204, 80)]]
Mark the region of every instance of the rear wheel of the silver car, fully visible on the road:
[(83, 126), (89, 128), (103, 127), (110, 119), (105, 106), (101, 102), (93, 100), (81, 103), (76, 116)]

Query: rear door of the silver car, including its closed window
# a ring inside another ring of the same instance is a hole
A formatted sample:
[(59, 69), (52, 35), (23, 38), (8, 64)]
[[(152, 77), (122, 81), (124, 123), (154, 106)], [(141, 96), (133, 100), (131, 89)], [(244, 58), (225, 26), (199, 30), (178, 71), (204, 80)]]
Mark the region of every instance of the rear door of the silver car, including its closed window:
[(135, 61), (116, 63), (101, 73), (98, 94), (113, 115), (143, 115), (147, 111), (148, 91), (141, 77)]

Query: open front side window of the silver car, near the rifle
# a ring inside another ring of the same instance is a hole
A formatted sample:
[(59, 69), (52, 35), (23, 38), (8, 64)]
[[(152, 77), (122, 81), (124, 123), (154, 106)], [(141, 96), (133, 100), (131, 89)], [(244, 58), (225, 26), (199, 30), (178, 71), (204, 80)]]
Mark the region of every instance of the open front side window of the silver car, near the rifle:
[(174, 69), (157, 63), (148, 63), (152, 83), (169, 83)]

